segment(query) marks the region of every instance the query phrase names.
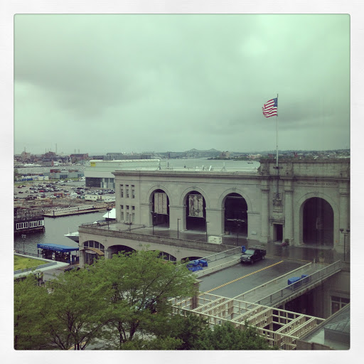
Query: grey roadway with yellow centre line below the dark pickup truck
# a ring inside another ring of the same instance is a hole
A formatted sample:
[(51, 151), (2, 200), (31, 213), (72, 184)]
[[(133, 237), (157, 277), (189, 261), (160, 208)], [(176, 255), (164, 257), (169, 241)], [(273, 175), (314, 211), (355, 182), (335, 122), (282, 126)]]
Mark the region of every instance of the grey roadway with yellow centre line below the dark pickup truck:
[(201, 277), (200, 291), (232, 298), (307, 263), (267, 256), (266, 259), (255, 264), (238, 263), (209, 276)]

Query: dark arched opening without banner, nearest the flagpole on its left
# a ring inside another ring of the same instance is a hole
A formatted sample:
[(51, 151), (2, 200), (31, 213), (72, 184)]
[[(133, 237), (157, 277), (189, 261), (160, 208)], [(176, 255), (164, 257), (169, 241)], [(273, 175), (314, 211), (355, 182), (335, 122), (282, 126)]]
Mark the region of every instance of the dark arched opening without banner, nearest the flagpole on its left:
[(225, 198), (225, 233), (247, 236), (247, 201), (239, 193)]

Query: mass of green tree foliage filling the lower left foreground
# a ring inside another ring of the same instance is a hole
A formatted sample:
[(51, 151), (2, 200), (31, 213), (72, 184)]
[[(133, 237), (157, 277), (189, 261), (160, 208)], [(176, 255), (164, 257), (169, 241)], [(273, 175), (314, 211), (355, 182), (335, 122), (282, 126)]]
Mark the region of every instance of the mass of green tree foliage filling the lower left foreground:
[(59, 274), (46, 287), (30, 278), (16, 282), (15, 348), (82, 350), (98, 339), (105, 349), (177, 348), (179, 338), (159, 337), (171, 314), (168, 299), (195, 294), (196, 278), (158, 255), (114, 255)]

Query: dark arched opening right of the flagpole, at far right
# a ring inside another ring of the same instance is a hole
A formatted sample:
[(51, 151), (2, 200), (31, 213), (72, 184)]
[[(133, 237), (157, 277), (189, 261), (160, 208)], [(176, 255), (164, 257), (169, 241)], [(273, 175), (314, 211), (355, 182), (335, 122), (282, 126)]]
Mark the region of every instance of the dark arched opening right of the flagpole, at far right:
[(333, 246), (333, 208), (323, 198), (313, 197), (304, 202), (303, 242)]

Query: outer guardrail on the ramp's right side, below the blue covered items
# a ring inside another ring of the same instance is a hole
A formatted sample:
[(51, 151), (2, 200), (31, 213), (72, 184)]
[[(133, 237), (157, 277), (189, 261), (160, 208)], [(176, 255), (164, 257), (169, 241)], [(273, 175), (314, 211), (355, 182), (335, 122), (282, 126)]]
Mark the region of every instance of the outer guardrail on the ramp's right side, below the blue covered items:
[(323, 279), (330, 277), (331, 275), (340, 272), (341, 270), (341, 261), (335, 262), (333, 264), (320, 269), (318, 272), (313, 274), (309, 274), (304, 278), (299, 279), (298, 281), (294, 282), (294, 284), (288, 285), (283, 289), (279, 289), (268, 296), (259, 299), (259, 301), (255, 302), (256, 304), (262, 304), (264, 306), (272, 306), (274, 304), (278, 304), (279, 302), (284, 301), (285, 299), (289, 298), (293, 294), (297, 294), (302, 290), (305, 290), (312, 285), (321, 282)]

